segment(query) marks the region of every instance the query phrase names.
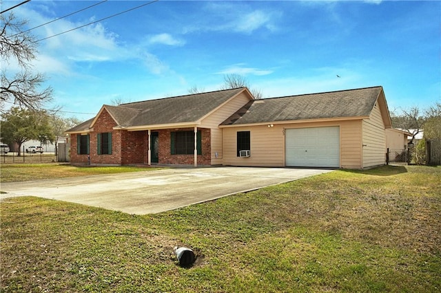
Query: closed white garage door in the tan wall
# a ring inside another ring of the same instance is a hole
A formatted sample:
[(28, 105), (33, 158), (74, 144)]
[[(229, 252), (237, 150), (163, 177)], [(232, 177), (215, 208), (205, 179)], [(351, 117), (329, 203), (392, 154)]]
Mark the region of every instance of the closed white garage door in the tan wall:
[(286, 165), (340, 167), (340, 127), (286, 129)]

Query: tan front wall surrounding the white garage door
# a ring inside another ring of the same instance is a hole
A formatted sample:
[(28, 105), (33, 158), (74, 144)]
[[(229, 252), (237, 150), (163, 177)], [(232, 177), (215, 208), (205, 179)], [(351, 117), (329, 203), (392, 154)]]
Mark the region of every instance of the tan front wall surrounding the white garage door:
[[(223, 164), (231, 166), (285, 166), (284, 129), (329, 126), (340, 127), (340, 166), (348, 169), (362, 168), (361, 120), (274, 124), (274, 127), (262, 125), (224, 128)], [(237, 131), (251, 131), (250, 158), (237, 157)]]

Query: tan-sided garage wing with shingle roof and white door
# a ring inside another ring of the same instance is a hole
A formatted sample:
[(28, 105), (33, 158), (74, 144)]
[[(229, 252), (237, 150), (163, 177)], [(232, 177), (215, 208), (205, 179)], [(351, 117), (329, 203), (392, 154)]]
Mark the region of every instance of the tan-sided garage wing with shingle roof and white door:
[[(365, 169), (385, 164), (391, 118), (382, 87), (365, 87), (250, 101), (219, 127), (225, 165)], [(248, 158), (238, 131), (250, 133)]]

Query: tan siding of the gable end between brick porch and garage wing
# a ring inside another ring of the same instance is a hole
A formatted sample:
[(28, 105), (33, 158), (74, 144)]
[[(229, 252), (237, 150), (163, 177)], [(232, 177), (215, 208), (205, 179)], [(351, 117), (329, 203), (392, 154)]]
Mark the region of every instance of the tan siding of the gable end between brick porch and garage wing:
[(248, 96), (244, 93), (239, 94), (234, 99), (223, 105), (223, 107), (220, 107), (202, 120), (202, 124), (200, 127), (212, 129), (212, 164), (222, 164), (223, 158), (223, 135), (222, 129), (219, 129), (218, 125), (224, 122), (225, 119), (229, 118), (232, 113), (235, 113), (238, 109), (243, 107), (247, 102), (249, 102)]

